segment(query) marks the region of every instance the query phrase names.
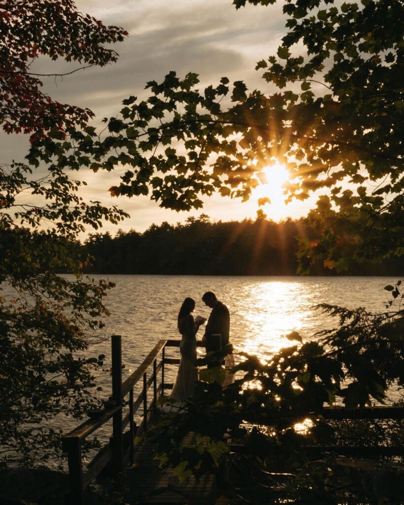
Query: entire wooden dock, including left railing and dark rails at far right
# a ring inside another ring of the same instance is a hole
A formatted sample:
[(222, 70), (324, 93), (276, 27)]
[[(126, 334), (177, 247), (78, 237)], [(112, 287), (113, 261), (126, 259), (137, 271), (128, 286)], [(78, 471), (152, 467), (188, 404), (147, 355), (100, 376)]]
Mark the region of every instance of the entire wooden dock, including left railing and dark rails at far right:
[[(200, 343), (199, 343), (200, 345)], [(116, 503), (125, 503), (128, 505), (151, 504), (151, 503), (182, 503), (187, 505), (209, 505), (218, 503), (227, 503), (226, 491), (220, 488), (219, 482), (225, 479), (224, 473), (217, 478), (215, 475), (205, 475), (196, 480), (190, 478), (186, 482), (180, 483), (174, 475), (173, 470), (161, 470), (156, 460), (153, 459), (153, 451), (147, 438), (141, 435), (147, 431), (150, 423), (153, 423), (156, 416), (156, 403), (161, 395), (167, 393), (172, 387), (165, 380), (166, 366), (178, 365), (179, 357), (170, 357), (166, 355), (166, 349), (169, 347), (179, 347), (179, 340), (160, 340), (143, 363), (122, 382), (122, 363), (121, 363), (121, 339), (119, 336), (112, 337), (112, 399), (115, 405), (110, 406), (101, 413), (99, 418), (89, 419), (81, 426), (63, 437), (63, 447), (67, 452), (69, 461), (69, 489), (67, 494), (68, 505), (113, 505), (115, 501), (93, 501), (88, 498), (89, 485), (99, 476), (102, 476), (108, 470), (109, 475), (115, 475), (115, 482), (120, 483), (120, 489), (116, 496), (119, 501)], [(135, 397), (134, 386), (138, 384), (141, 389), (140, 394)], [(138, 412), (139, 411), (139, 412)], [(136, 413), (137, 417), (136, 417)], [(138, 426), (135, 424), (135, 417), (141, 422)], [(313, 413), (311, 413), (313, 414)], [(403, 419), (404, 408), (365, 408), (365, 409), (346, 409), (333, 408), (322, 409), (317, 413), (327, 419)], [(164, 415), (164, 414), (163, 414)], [(113, 421), (113, 433), (109, 443), (99, 451), (94, 460), (84, 468), (81, 458), (81, 445), (86, 437), (94, 433), (105, 423)], [(192, 442), (192, 433), (187, 435), (189, 442)], [(307, 453), (312, 453), (315, 460), (324, 454), (336, 453), (336, 455), (346, 458), (354, 457), (357, 463), (360, 460), (369, 457), (382, 456), (402, 456), (404, 447), (346, 447), (346, 446), (305, 446)], [(243, 447), (236, 446), (232, 448), (232, 453), (242, 457)], [(235, 451), (235, 452), (234, 452)], [(282, 455), (280, 455), (281, 457)], [(357, 465), (358, 466), (358, 465)], [(230, 467), (229, 467), (230, 468)], [(225, 473), (229, 471), (225, 470)], [(276, 475), (289, 477), (292, 474), (279, 473), (274, 469)], [(244, 472), (245, 473), (245, 472)], [(227, 475), (227, 473), (226, 473)], [(240, 485), (237, 477), (231, 476), (235, 487)], [(219, 482), (218, 482), (219, 481)], [(108, 487), (108, 479), (104, 484)], [(251, 486), (247, 482), (247, 486)], [(267, 486), (268, 487), (268, 486)], [(106, 487), (104, 487), (106, 489)], [(88, 491), (86, 491), (86, 489)], [(282, 499), (287, 499), (287, 495)]]

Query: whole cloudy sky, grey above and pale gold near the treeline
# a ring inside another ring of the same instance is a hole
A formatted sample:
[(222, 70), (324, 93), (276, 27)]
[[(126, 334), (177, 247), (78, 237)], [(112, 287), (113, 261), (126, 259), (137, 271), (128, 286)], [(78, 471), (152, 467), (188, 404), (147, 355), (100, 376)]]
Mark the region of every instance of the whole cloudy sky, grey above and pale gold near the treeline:
[[(118, 63), (104, 68), (90, 68), (63, 78), (43, 78), (43, 89), (54, 99), (64, 103), (88, 107), (96, 114), (96, 121), (113, 116), (121, 109), (121, 102), (129, 95), (142, 96), (148, 80), (162, 80), (170, 70), (179, 76), (196, 72), (200, 88), (217, 84), (223, 76), (244, 80), (249, 89), (270, 91), (255, 71), (259, 60), (274, 54), (284, 33), (285, 18), (281, 3), (269, 7), (247, 6), (238, 11), (231, 0), (76, 0), (81, 12), (88, 13), (105, 24), (122, 26), (129, 37), (114, 48), (120, 55)], [(42, 59), (35, 64), (40, 73), (64, 72), (76, 68), (64, 62), (52, 64)], [(19, 159), (27, 145), (22, 136), (0, 137), (3, 161)], [(146, 197), (111, 198), (108, 188), (119, 184), (114, 173), (82, 172), (89, 185), (86, 197), (101, 200), (104, 205), (118, 205), (131, 215), (121, 223), (125, 231), (134, 228), (144, 231), (151, 223), (176, 223), (188, 216), (208, 214), (213, 220), (255, 218), (256, 199), (249, 203), (220, 196), (206, 200), (204, 209), (190, 213), (163, 210)], [(292, 217), (307, 213), (308, 204), (288, 207)], [(269, 218), (270, 206), (264, 212)], [(117, 228), (104, 226), (115, 234)], [(91, 231), (91, 230), (88, 230)]]

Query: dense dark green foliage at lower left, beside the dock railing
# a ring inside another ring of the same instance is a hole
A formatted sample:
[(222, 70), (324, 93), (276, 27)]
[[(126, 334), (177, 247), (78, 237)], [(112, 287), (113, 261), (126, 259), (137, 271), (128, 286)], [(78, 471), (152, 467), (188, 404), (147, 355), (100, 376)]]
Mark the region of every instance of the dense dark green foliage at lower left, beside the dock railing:
[[(55, 450), (43, 443), (46, 433), (55, 438), (47, 421), (81, 418), (97, 403), (94, 373), (102, 359), (83, 351), (99, 338), (113, 284), (81, 279), (78, 248), (55, 234), (0, 234), (1, 459), (32, 464)], [(62, 269), (72, 275), (57, 275)]]

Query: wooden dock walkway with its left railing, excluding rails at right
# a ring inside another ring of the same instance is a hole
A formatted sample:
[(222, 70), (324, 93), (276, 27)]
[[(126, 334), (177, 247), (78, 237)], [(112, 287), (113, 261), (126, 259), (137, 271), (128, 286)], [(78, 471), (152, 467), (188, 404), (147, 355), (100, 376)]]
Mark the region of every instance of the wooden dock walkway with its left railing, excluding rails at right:
[[(178, 365), (178, 358), (165, 354), (167, 347), (179, 347), (179, 340), (160, 340), (135, 372), (122, 382), (121, 337), (112, 336), (112, 399), (115, 403), (100, 416), (89, 419), (63, 437), (63, 448), (69, 462), (69, 505), (86, 505), (88, 486), (100, 474), (122, 476), (125, 503), (214, 503), (216, 480), (213, 475), (180, 483), (173, 471), (161, 470), (151, 456), (150, 443), (140, 437), (153, 422), (154, 407), (159, 397), (172, 384), (165, 383), (165, 367)], [(140, 383), (141, 392), (134, 396), (134, 386)], [(128, 411), (124, 411), (127, 397)], [(134, 417), (140, 411), (142, 421), (136, 426)], [(97, 429), (113, 420), (110, 442), (84, 468), (81, 445)], [(191, 434), (189, 435), (192, 436)]]

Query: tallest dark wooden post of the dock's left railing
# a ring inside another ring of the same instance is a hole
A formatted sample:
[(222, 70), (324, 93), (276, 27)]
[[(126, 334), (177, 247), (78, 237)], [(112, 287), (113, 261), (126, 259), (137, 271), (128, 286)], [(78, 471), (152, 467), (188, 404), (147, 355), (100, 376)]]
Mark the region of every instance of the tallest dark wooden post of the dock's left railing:
[(114, 473), (123, 471), (122, 433), (122, 347), (121, 335), (112, 335), (112, 397), (121, 408), (112, 418), (112, 459)]

